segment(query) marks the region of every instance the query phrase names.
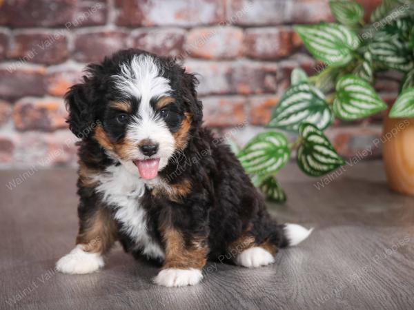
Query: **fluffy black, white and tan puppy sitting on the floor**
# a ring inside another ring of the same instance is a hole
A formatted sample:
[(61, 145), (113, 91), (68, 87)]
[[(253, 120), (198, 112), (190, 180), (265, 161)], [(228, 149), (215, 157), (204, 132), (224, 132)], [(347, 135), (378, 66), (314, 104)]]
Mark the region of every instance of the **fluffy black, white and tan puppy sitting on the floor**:
[(162, 263), (154, 282), (197, 284), (208, 259), (275, 261), (311, 233), (277, 225), (229, 147), (201, 127), (197, 79), (172, 59), (122, 50), (66, 94), (79, 145), (79, 233), (63, 273), (103, 267), (115, 241)]

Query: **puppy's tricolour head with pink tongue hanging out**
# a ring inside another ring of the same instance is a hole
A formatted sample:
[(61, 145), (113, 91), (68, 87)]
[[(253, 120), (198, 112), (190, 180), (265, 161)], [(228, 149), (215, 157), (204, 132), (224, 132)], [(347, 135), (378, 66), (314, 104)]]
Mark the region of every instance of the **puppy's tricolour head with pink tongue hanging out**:
[(155, 178), (201, 124), (197, 79), (142, 50), (118, 52), (87, 72), (66, 94), (70, 130), (95, 139), (130, 172)]

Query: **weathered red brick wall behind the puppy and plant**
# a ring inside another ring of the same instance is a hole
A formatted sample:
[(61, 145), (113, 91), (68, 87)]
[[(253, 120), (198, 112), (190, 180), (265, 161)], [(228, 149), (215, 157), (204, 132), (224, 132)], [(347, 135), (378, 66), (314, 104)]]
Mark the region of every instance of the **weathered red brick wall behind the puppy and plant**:
[[(4, 0), (0, 5), (0, 167), (75, 163), (62, 96), (79, 81), (86, 63), (121, 48), (182, 59), (200, 74), (206, 124), (246, 143), (263, 130), (291, 70), (317, 70), (291, 25), (332, 20), (328, 0)], [(393, 101), (395, 85), (377, 86)], [(352, 156), (380, 135), (380, 123), (381, 116), (337, 122), (328, 135), (342, 155)]]

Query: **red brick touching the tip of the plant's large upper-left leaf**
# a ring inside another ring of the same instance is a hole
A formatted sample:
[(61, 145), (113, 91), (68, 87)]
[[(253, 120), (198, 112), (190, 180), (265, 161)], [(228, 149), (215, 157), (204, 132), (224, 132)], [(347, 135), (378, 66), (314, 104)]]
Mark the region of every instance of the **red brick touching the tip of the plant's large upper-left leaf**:
[(297, 47), (297, 38), (289, 28), (253, 28), (246, 31), (246, 55), (273, 60), (288, 56)]

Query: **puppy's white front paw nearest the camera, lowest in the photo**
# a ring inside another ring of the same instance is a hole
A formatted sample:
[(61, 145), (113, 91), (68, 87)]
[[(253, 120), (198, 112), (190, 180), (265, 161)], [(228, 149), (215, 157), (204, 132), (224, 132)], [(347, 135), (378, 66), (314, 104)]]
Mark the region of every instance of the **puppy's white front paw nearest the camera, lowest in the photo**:
[(154, 278), (154, 282), (164, 287), (184, 287), (186, 285), (196, 285), (202, 278), (203, 274), (199, 269), (168, 268), (159, 271)]

